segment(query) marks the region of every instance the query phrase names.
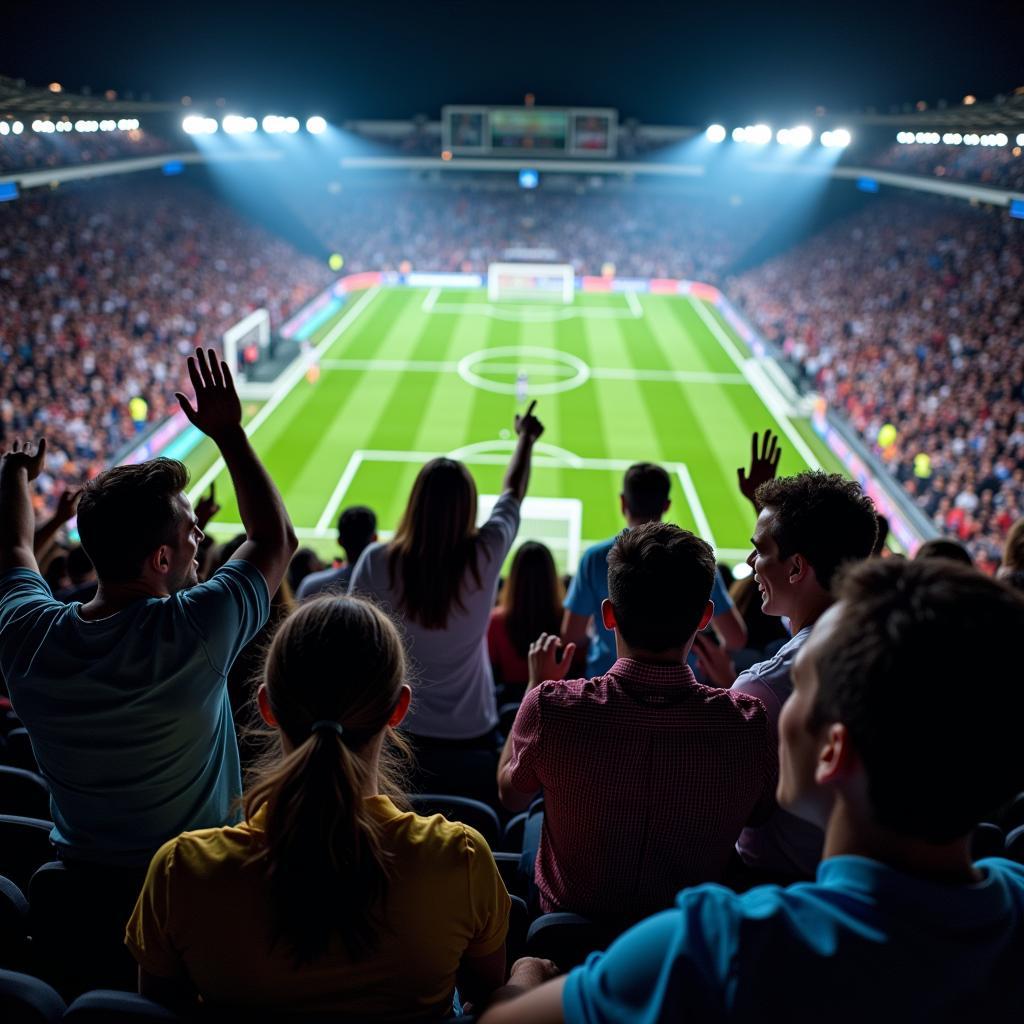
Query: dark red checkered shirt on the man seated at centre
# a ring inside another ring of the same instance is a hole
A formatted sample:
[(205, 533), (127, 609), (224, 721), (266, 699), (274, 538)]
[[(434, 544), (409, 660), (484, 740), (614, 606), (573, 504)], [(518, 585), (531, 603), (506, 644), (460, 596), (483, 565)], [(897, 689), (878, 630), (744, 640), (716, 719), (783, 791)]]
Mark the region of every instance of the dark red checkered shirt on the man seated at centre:
[(686, 666), (620, 658), (606, 676), (549, 681), (512, 728), (509, 780), (544, 790), (541, 907), (639, 918), (723, 877), (736, 838), (773, 808), (764, 706)]

